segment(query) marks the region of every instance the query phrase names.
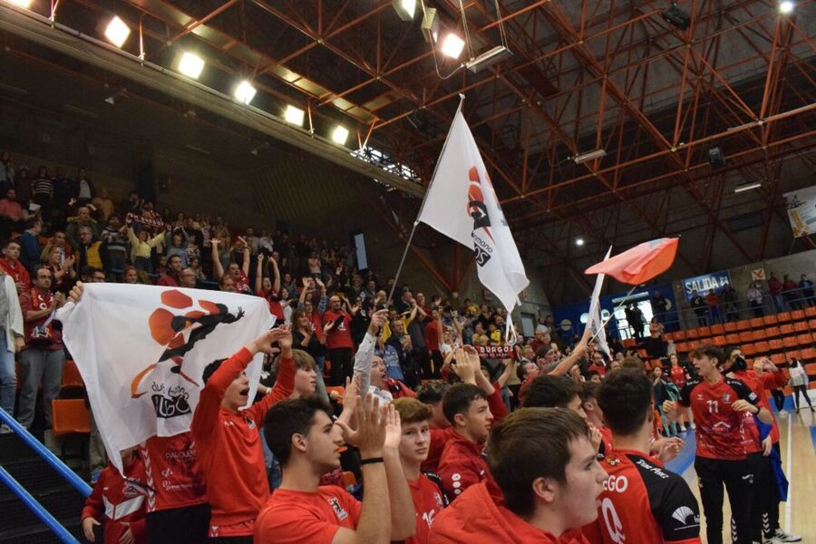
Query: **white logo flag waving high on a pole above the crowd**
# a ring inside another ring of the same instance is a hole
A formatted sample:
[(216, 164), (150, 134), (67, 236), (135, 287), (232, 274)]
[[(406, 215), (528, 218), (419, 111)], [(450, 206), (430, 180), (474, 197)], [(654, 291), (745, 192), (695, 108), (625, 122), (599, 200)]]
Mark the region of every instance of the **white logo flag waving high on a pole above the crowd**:
[(417, 220), (476, 252), (481, 285), (491, 290), (508, 313), (520, 304), (519, 293), (529, 279), (461, 111), (453, 118)]

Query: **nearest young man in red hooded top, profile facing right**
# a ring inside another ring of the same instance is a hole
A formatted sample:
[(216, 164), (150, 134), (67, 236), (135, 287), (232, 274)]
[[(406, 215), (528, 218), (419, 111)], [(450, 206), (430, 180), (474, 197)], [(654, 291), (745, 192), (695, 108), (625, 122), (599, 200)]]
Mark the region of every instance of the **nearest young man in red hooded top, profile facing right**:
[(428, 541), (586, 544), (579, 528), (596, 520), (607, 478), (587, 423), (563, 408), (522, 408), (493, 427), (489, 444), (500, 494), (491, 482), (471, 486), (437, 516)]

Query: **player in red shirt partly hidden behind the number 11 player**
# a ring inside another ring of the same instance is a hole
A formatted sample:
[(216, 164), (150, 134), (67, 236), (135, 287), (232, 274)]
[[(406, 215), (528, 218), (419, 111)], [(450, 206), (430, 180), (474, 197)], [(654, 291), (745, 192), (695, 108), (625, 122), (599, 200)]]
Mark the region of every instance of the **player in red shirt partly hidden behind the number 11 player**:
[[(776, 387), (783, 387), (788, 378), (767, 357), (758, 357), (753, 360), (753, 370), (748, 369), (748, 363), (738, 346), (726, 346), (723, 374), (737, 379), (751, 388), (760, 400), (760, 404), (768, 413), (771, 405), (768, 403), (768, 391)], [(761, 428), (757, 425), (753, 415), (743, 412), (743, 433), (745, 454), (753, 474), (751, 522), (752, 539), (776, 542), (799, 542), (801, 537), (789, 535), (779, 526), (779, 491), (774, 476), (771, 452), (776, 449), (779, 453), (779, 425), (773, 418), (772, 425)]]

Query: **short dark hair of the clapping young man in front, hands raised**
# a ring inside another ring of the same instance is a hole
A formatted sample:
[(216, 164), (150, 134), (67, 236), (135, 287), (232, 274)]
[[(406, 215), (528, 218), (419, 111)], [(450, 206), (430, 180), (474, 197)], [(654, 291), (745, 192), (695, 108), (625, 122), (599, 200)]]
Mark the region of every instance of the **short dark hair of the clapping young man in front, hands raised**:
[(315, 414), (321, 411), (332, 417), (331, 406), (317, 395), (283, 401), (269, 408), (264, 437), (281, 466), (286, 466), (292, 455), (292, 435), (307, 434), (315, 424)]

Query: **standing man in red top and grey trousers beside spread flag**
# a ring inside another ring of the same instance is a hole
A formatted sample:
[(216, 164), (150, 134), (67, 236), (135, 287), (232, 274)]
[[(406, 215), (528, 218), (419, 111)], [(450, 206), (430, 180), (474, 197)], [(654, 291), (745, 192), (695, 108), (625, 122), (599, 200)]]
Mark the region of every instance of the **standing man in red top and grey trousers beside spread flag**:
[[(20, 308), (25, 322), (25, 346), (20, 352), (20, 410), (17, 421), (26, 429), (34, 422), (37, 391), (43, 384), (45, 429), (50, 434), (51, 401), (60, 393), (63, 381), (63, 335), (53, 321), (57, 308), (63, 306), (62, 293), (53, 294), (53, 274), (47, 266), (37, 267), (34, 287), (20, 293)], [(46, 444), (48, 441), (46, 441)]]

